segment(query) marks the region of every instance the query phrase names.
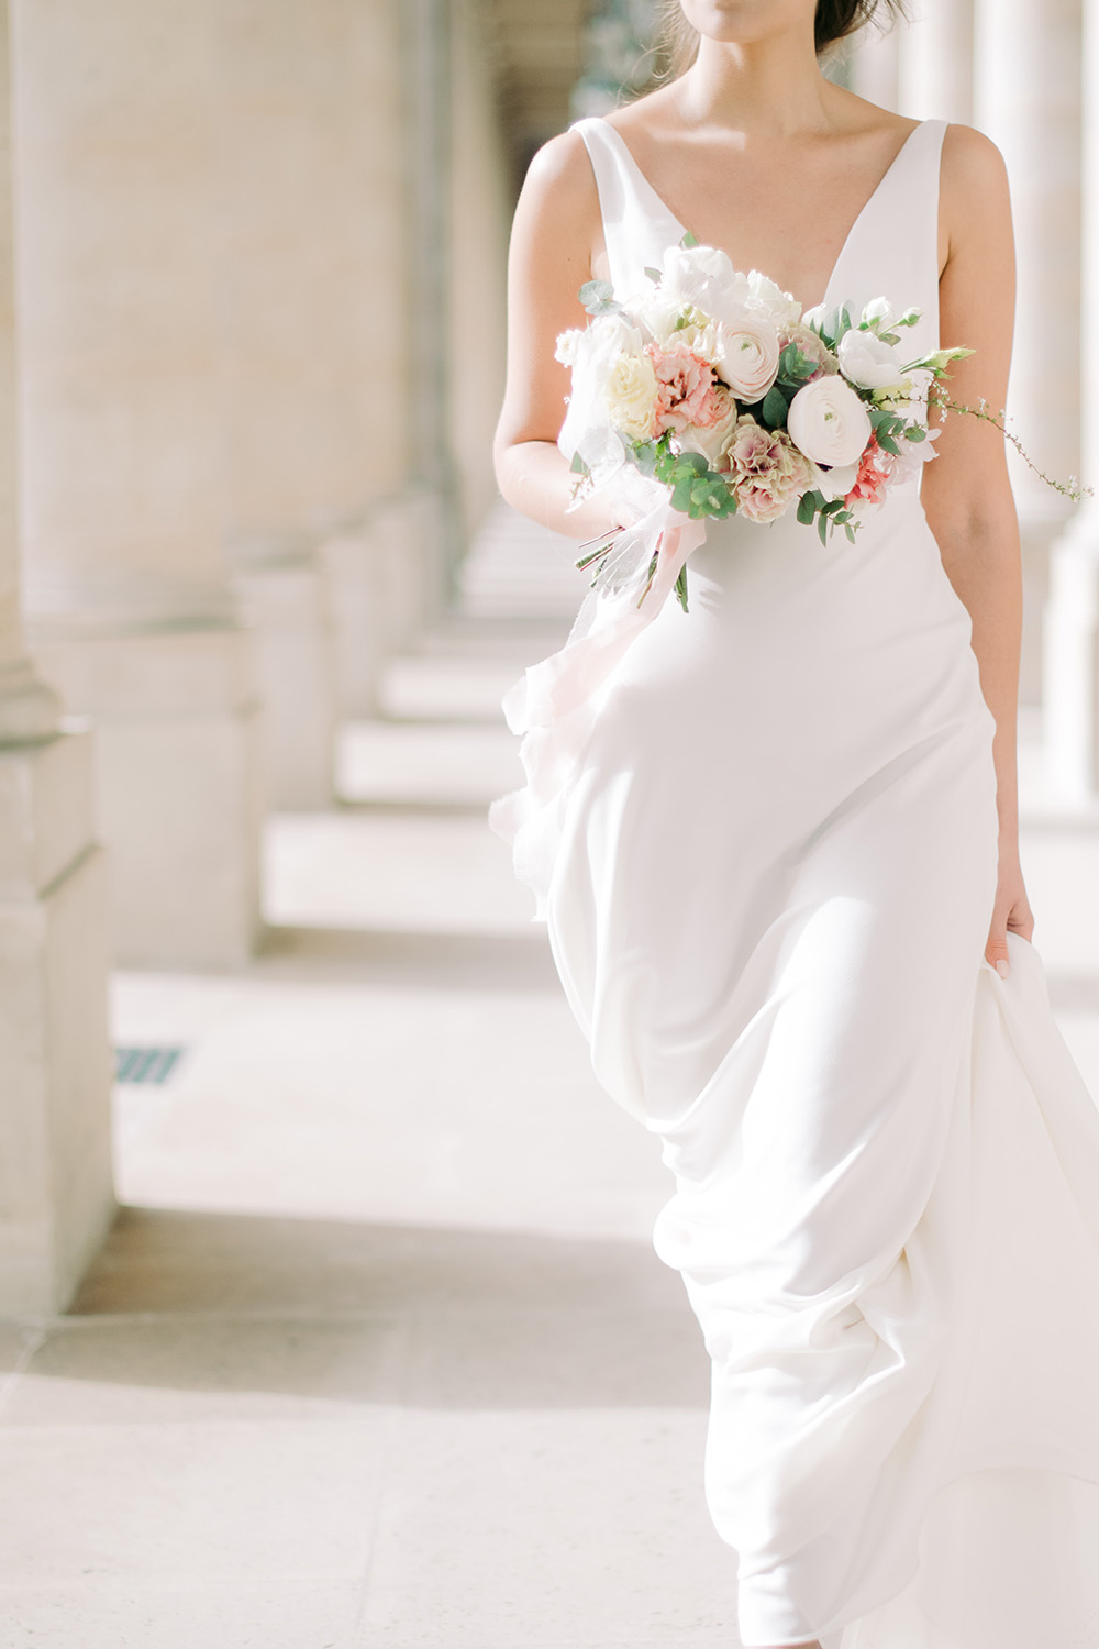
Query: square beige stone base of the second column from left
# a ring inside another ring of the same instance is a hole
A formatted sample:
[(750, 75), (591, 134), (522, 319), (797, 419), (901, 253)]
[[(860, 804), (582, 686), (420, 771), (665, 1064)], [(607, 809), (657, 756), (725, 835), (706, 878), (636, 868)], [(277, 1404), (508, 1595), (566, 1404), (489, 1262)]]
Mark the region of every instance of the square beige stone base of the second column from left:
[(115, 955), (239, 966), (260, 927), (259, 724), (234, 627), (35, 637), (68, 704), (96, 717), (99, 829)]

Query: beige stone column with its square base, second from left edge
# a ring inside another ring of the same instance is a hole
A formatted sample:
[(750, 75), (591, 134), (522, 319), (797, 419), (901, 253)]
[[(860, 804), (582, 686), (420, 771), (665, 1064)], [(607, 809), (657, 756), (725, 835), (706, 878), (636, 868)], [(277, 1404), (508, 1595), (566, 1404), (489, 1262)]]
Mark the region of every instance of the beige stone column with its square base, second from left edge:
[(259, 923), (255, 694), (222, 557), (219, 12), (15, 3), (30, 633), (97, 722), (138, 963), (241, 961)]

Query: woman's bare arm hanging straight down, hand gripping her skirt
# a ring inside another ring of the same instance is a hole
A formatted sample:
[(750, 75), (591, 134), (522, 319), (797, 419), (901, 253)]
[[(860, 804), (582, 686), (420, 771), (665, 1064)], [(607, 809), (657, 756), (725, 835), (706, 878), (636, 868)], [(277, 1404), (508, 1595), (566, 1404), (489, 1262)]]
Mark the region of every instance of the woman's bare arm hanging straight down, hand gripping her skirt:
[[(939, 333), (944, 345), (966, 345), (949, 383), (954, 401), (980, 397), (998, 416), (1015, 317), (1015, 249), (1007, 173), (998, 150), (967, 127), (949, 127), (942, 150), (946, 265), (939, 280)], [(949, 414), (936, 442), (939, 457), (923, 477), (923, 503), (942, 566), (969, 608), (980, 688), (995, 717), (992, 745), (1000, 816), (1000, 876), (985, 947), (987, 960), (1007, 971), (1007, 932), (1030, 938), (1033, 917), (1018, 864), (1018, 790), (1015, 762), (1022, 567), (1018, 519), (1007, 473), (1003, 437), (990, 424)]]

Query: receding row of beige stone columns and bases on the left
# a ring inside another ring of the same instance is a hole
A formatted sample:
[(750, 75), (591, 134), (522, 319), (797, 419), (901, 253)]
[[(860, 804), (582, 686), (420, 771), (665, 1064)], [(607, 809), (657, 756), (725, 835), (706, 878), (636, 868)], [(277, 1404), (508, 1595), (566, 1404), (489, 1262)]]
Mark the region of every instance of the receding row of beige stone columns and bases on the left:
[(247, 958), (264, 810), (445, 602), (509, 213), (475, 0), (10, 3), (0, 1313), (110, 1214), (110, 953)]

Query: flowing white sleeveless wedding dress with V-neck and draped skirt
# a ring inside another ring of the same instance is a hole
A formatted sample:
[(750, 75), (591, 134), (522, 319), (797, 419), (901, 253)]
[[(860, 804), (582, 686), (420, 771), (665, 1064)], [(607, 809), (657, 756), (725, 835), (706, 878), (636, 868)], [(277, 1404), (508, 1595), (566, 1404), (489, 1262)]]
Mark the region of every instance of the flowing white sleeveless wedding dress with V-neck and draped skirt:
[[(682, 226), (613, 127), (578, 129), (639, 290)], [(921, 307), (919, 348), (942, 130), (827, 292)], [(512, 693), (529, 788), (494, 824), (676, 1176), (656, 1247), (713, 1362), (741, 1641), (1099, 1646), (1099, 1115), (1036, 953), (1013, 938), (1008, 980), (982, 956), (992, 717), (918, 483), (853, 544), (710, 523), (689, 580), (687, 615), (605, 656), (623, 615), (590, 597)]]

